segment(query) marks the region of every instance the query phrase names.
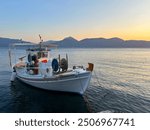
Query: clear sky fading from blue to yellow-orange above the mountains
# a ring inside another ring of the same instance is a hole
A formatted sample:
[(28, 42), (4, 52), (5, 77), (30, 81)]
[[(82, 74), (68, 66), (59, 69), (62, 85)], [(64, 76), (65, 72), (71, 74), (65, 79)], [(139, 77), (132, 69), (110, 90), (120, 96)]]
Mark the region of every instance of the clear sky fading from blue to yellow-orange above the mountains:
[(150, 40), (150, 0), (0, 0), (0, 37)]

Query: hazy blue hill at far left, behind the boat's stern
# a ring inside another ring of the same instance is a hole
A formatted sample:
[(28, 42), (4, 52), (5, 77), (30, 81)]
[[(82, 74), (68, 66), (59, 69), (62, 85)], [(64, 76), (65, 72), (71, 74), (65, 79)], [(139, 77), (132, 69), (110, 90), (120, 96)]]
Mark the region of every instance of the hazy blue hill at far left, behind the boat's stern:
[(2, 38), (0, 37), (0, 47), (8, 47), (10, 44), (13, 43), (28, 43), (27, 41), (22, 41), (21, 39), (11, 39), (11, 38)]

